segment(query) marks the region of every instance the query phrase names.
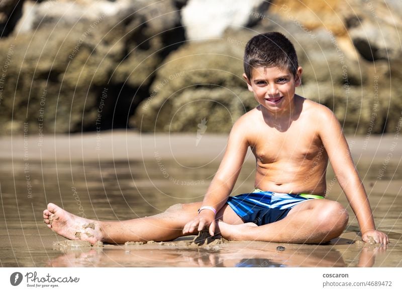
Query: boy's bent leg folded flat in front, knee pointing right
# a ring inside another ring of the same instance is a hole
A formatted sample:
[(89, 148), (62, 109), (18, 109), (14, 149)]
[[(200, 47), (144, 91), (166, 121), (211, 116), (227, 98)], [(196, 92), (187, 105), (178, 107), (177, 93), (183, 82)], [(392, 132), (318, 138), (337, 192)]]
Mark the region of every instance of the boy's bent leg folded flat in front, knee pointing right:
[(320, 243), (338, 237), (348, 222), (348, 213), (338, 202), (314, 199), (296, 205), (282, 220), (257, 226), (218, 222), (223, 237), (287, 243)]

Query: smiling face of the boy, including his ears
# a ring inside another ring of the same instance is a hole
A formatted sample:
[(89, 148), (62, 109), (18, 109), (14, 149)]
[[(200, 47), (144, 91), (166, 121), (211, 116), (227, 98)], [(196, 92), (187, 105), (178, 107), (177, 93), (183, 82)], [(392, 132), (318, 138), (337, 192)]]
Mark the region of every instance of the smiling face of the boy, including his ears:
[(302, 67), (294, 77), (287, 69), (279, 67), (255, 67), (250, 80), (245, 74), (248, 89), (254, 93), (261, 106), (273, 113), (287, 112), (292, 106), (294, 91), (301, 84)]

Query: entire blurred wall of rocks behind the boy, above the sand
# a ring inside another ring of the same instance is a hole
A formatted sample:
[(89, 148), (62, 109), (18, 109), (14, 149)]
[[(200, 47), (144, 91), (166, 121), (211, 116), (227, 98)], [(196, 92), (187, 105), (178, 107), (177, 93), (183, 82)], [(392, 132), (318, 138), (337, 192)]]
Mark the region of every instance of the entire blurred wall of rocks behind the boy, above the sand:
[(298, 94), (333, 109), (346, 132), (394, 131), (401, 12), (397, 0), (26, 0), (0, 39), (0, 121), (38, 134), (227, 132), (256, 105), (246, 42), (280, 31), (304, 68)]

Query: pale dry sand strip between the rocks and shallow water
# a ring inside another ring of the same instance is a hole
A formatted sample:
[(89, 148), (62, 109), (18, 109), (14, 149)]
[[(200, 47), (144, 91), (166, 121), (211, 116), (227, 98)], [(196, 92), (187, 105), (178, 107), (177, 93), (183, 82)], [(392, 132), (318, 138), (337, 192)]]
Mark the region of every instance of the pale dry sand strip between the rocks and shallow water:
[[(219, 159), (222, 157), (228, 135), (204, 134), (198, 139), (195, 133), (141, 134), (132, 130), (111, 130), (85, 134), (30, 133), (0, 137), (0, 159), (23, 159), (46, 161), (98, 161), (153, 159), (155, 152), (162, 157), (175, 159)], [(348, 136), (351, 153), (356, 159), (382, 160), (390, 152), (393, 134), (371, 136)], [(402, 147), (392, 149), (392, 159), (402, 157)], [(254, 160), (251, 152), (248, 159)]]

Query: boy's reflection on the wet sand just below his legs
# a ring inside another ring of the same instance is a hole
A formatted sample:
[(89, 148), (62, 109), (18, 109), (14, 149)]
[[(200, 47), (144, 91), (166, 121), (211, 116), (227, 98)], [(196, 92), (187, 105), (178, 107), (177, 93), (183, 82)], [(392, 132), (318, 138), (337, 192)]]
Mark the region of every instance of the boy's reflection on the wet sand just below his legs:
[[(186, 248), (158, 248), (157, 246), (113, 246), (69, 250), (48, 261), (47, 266), (134, 266), (134, 267), (345, 267), (342, 252), (333, 245), (311, 245), (300, 248), (287, 245), (276, 250), (277, 244), (233, 242), (207, 250)], [(344, 246), (345, 247), (345, 246)], [(351, 250), (354, 244), (346, 246)], [(264, 248), (264, 249), (262, 249)], [(363, 247), (355, 253), (357, 262), (351, 266), (371, 267), (386, 247)]]

